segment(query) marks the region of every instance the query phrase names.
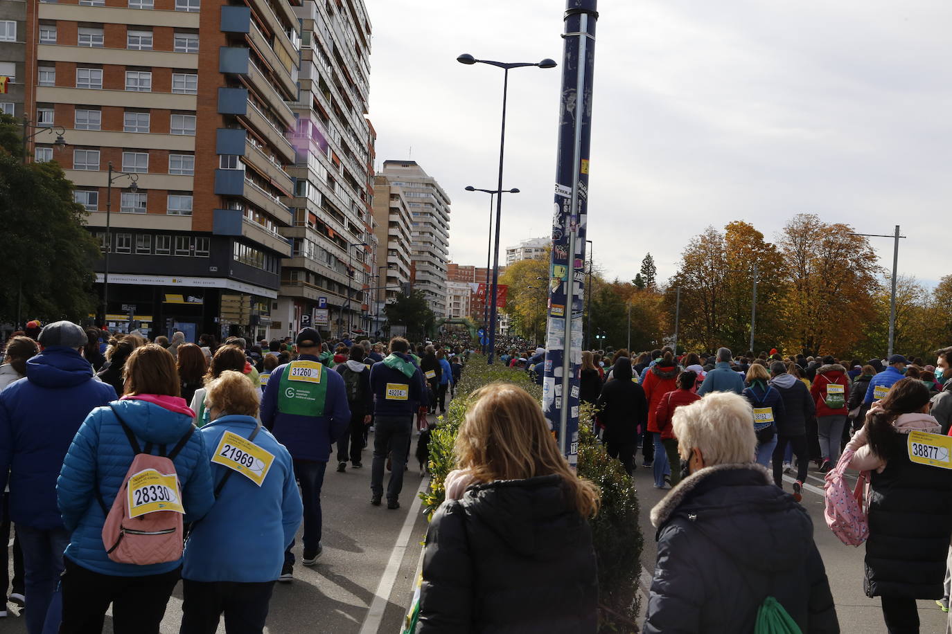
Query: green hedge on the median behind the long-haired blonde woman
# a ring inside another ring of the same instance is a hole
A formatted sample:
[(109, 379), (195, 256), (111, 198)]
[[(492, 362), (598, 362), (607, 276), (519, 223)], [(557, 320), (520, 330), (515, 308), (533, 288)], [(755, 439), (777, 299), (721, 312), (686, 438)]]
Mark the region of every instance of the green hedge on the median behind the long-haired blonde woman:
[[(433, 513), (446, 497), (446, 474), (455, 469), (453, 443), (466, 417), (470, 394), (493, 381), (519, 385), (542, 402), (542, 387), (521, 370), (502, 365), (486, 365), (486, 357), (470, 356), (456, 389), (456, 397), (429, 442), (429, 470), (432, 480), (420, 493), (426, 513)], [(605, 454), (602, 444), (591, 432), (595, 411), (583, 406), (579, 416), (578, 472), (602, 492), (599, 514), (589, 520), (599, 577), (599, 632), (637, 632), (638, 575), (641, 571), (643, 538), (638, 523), (638, 491), (618, 460)]]

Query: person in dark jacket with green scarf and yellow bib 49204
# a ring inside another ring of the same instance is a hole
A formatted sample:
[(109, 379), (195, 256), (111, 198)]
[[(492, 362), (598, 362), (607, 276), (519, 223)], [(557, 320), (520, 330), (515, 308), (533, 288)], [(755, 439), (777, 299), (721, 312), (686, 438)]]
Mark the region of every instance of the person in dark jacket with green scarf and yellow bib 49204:
[[(429, 404), (423, 370), (409, 355), (402, 336), (390, 339), (390, 354), (370, 368), (373, 393), (373, 465), (370, 471), (370, 504), (380, 506), (384, 497), (384, 463), (391, 456), (393, 470), (387, 483), (387, 509), (400, 508), (404, 469), (410, 447), (413, 414), (425, 414)], [(435, 359), (435, 356), (434, 356)]]

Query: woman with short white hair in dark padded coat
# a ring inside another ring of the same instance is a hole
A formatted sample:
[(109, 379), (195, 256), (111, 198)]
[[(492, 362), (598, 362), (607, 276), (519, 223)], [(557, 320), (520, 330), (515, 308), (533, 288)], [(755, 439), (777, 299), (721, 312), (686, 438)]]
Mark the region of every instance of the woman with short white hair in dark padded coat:
[(689, 476), (651, 510), (658, 561), (645, 633), (753, 632), (762, 605), (804, 634), (840, 631), (810, 517), (754, 462), (752, 417), (730, 393), (673, 415)]

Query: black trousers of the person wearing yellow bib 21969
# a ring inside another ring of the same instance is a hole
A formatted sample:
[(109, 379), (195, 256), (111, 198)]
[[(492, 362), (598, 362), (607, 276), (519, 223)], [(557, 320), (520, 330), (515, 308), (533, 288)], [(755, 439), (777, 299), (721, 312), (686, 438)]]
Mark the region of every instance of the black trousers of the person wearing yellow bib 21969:
[(218, 620), (225, 613), (228, 634), (261, 634), (268, 618), (268, 603), (274, 582), (239, 584), (236, 582), (182, 581), (182, 627), (179, 634), (215, 634)]

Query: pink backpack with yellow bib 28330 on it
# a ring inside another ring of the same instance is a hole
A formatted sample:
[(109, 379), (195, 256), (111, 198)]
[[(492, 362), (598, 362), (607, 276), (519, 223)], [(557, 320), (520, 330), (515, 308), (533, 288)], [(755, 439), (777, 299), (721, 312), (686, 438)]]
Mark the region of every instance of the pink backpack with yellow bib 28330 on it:
[(135, 434), (114, 408), (112, 413), (126, 432), (134, 457), (110, 509), (107, 510), (98, 484), (96, 486), (99, 506), (106, 514), (103, 524), (106, 554), (114, 562), (136, 566), (176, 562), (182, 558), (185, 508), (182, 486), (172, 460), (188, 443), (195, 426), (190, 426), (168, 455), (165, 445), (159, 446), (159, 455), (152, 455), (152, 443), (140, 451)]

